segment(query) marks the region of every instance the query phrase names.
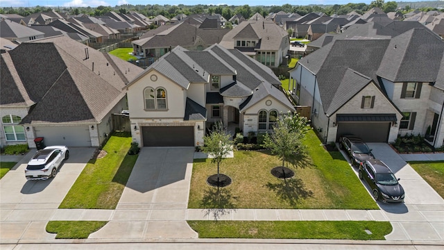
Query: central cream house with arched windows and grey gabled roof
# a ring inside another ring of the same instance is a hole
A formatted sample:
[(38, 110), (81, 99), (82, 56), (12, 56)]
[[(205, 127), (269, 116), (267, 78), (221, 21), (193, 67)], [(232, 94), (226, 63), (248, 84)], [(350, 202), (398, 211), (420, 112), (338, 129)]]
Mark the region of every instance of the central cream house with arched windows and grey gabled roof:
[(176, 47), (124, 87), (133, 140), (196, 147), (215, 122), (244, 135), (270, 131), (281, 112), (294, 111), (279, 86), (271, 69), (236, 49)]

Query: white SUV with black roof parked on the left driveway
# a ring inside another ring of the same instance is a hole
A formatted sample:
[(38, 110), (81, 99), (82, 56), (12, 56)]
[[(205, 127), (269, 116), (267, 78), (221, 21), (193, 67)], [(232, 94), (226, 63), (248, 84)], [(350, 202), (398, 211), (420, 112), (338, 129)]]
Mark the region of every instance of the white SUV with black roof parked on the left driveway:
[(69, 158), (66, 146), (51, 146), (40, 149), (29, 160), (25, 169), (27, 180), (46, 180), (55, 177), (63, 160)]

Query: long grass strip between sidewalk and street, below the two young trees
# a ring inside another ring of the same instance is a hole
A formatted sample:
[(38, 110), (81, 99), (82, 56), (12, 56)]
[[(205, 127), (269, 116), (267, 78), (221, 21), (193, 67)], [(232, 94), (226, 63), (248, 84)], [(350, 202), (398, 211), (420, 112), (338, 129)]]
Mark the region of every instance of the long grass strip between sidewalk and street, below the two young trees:
[(199, 238), (385, 240), (384, 235), (393, 230), (390, 222), (188, 221), (188, 224)]

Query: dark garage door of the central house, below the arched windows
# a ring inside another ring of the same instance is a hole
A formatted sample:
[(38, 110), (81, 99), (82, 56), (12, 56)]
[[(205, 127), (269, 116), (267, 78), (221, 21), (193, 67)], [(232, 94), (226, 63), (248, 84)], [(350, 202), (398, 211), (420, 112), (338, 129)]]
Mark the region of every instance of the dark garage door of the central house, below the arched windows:
[(194, 126), (142, 127), (144, 147), (194, 147)]

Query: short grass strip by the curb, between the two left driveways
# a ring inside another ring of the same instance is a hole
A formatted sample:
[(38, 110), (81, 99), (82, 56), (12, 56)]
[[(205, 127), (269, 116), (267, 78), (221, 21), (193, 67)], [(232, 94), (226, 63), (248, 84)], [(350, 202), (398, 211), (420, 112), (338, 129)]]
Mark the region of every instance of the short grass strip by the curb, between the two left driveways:
[(46, 232), (57, 233), (56, 239), (86, 239), (108, 222), (96, 221), (51, 221), (46, 224)]

